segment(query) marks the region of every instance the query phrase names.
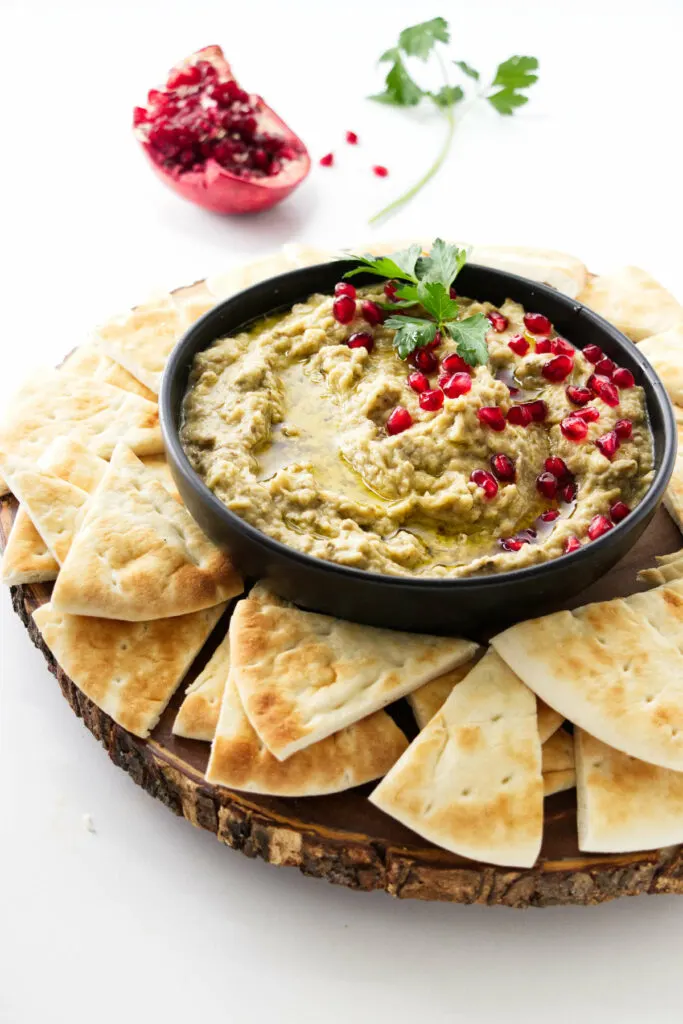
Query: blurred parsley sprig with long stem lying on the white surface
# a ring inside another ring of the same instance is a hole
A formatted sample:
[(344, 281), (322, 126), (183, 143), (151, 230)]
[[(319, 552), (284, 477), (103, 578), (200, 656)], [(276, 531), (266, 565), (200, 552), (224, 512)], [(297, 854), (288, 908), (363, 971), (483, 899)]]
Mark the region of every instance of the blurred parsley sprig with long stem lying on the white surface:
[[(509, 57), (498, 66), (496, 76), (488, 84), (482, 84), (479, 72), (465, 60), (451, 61), (462, 74), (463, 85), (470, 89), (470, 94), (467, 95), (462, 85), (453, 85), (449, 80), (443, 44), (450, 41), (449, 23), (443, 17), (433, 17), (430, 22), (423, 22), (420, 25), (403, 29), (398, 37), (397, 45), (386, 50), (380, 57), (380, 63), (389, 62), (391, 67), (386, 75), (384, 91), (370, 98), (380, 103), (389, 103), (392, 106), (417, 106), (424, 99), (429, 99), (444, 116), (447, 131), (443, 145), (429, 170), (408, 191), (385, 206), (374, 217), (371, 217), (371, 223), (395, 213), (437, 173), (453, 142), (456, 130), (455, 108), (458, 103), (463, 103), (463, 110), (468, 106), (471, 109), (475, 103), (484, 99), (499, 114), (508, 116), (514, 114), (517, 108), (523, 106), (528, 101), (524, 90), (538, 80), (538, 75), (533, 74), (539, 68), (539, 61), (536, 57)], [(443, 85), (440, 89), (431, 91), (418, 85), (408, 70), (407, 57), (414, 57), (425, 62), (433, 57), (443, 79)], [(464, 100), (467, 102), (463, 102)]]

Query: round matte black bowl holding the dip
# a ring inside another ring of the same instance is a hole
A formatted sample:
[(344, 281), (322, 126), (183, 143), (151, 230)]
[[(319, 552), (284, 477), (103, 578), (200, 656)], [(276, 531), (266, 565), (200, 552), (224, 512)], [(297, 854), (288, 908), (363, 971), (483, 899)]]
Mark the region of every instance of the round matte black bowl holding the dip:
[[(579, 348), (599, 345), (628, 367), (645, 389), (654, 436), (655, 475), (634, 512), (580, 551), (528, 568), (489, 577), (443, 580), (383, 575), (336, 565), (272, 540), (229, 512), (191, 468), (178, 438), (181, 404), (196, 352), (257, 317), (313, 292), (331, 293), (351, 262), (323, 263), (264, 281), (219, 303), (183, 335), (168, 361), (160, 396), (168, 460), (182, 499), (205, 532), (224, 546), (240, 570), (268, 580), (283, 597), (306, 608), (374, 626), (424, 632), (479, 632), (547, 611), (603, 575), (629, 551), (652, 518), (671, 476), (676, 423), (669, 397), (638, 348), (600, 316), (559, 292), (501, 270), (467, 264), (458, 291), (501, 305), (515, 299), (545, 313)], [(377, 279), (358, 276), (358, 285)]]

